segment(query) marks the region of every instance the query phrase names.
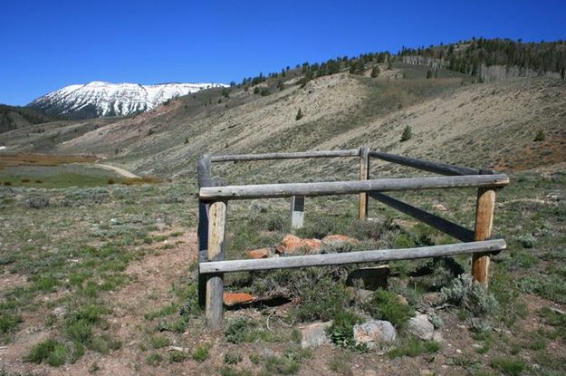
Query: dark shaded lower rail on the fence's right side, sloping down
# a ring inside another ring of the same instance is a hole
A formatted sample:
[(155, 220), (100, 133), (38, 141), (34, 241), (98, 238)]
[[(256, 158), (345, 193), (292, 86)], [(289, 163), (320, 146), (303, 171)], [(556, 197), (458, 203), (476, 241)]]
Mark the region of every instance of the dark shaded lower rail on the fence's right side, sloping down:
[(456, 223), (450, 222), (444, 218), (437, 217), (425, 210), (410, 206), (405, 202), (399, 201), (395, 198), (390, 198), (389, 196), (386, 196), (379, 192), (369, 192), (369, 197), (375, 198), (379, 202), (389, 205), (389, 207), (396, 208), (398, 211), (405, 213), (408, 216), (414, 217), (419, 221), (426, 223), (430, 227), (435, 227), (437, 230), (442, 231), (449, 236), (453, 236), (458, 240), (461, 240), (463, 242), (471, 242), (475, 240), (473, 231), (468, 230), (465, 227), (456, 225)]

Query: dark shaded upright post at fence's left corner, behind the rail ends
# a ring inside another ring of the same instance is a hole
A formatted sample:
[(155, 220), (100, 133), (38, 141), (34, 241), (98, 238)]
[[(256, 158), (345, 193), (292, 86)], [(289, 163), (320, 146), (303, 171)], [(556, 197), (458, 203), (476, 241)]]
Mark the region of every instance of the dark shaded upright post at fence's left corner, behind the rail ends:
[[(210, 157), (205, 154), (197, 162), (198, 187), (212, 187), (213, 180), (210, 176)], [(208, 205), (205, 201), (198, 200), (198, 262), (206, 261), (206, 248), (208, 246)], [(198, 275), (198, 304), (205, 307), (206, 304), (206, 276)]]

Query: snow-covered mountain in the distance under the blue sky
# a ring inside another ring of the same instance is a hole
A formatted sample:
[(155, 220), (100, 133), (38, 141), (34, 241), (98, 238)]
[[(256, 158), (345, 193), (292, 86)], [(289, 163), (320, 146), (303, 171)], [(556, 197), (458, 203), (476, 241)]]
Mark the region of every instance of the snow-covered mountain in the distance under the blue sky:
[(214, 87), (223, 83), (139, 83), (90, 82), (70, 85), (32, 101), (29, 106), (56, 115), (74, 118), (124, 116), (148, 111), (171, 98)]

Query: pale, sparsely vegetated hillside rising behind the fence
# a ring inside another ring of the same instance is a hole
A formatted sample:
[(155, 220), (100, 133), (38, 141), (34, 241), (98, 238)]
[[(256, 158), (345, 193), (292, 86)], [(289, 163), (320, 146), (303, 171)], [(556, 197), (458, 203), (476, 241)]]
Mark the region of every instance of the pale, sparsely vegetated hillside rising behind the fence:
[[(254, 94), (253, 86), (247, 91), (232, 88), (227, 97), (219, 90), (202, 92), (129, 119), (53, 127), (36, 144), (59, 153), (103, 155), (141, 174), (168, 178), (193, 176), (197, 156), (205, 152), (367, 145), (504, 170), (563, 160), (566, 83), (550, 78), (471, 83), (469, 76), (449, 70), (427, 79), (423, 66), (379, 66), (377, 78), (369, 77), (370, 69), (360, 75), (340, 72), (304, 85), (287, 83), (282, 91), (276, 79), (267, 80), (255, 86), (268, 87), (266, 96)], [(297, 121), (299, 109), (303, 117)], [(413, 137), (401, 142), (407, 126)], [(539, 132), (544, 140), (535, 141)], [(23, 136), (13, 131), (4, 141), (16, 150), (29, 150)], [(47, 146), (45, 140), (52, 142)], [(280, 162), (277, 169), (289, 178), (289, 169), (307, 175), (301, 163)], [(335, 163), (319, 160), (317, 166), (329, 169)], [(223, 173), (235, 176), (246, 169), (248, 177), (264, 177), (263, 165), (256, 166), (249, 170), (254, 167), (236, 165)]]

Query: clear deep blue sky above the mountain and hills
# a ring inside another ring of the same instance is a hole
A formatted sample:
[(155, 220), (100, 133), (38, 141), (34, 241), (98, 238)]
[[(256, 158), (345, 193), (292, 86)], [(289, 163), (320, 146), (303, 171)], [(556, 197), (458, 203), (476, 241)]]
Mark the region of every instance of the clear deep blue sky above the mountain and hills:
[(472, 36), (566, 39), (562, 1), (5, 1), (0, 103), (72, 83), (239, 82)]

